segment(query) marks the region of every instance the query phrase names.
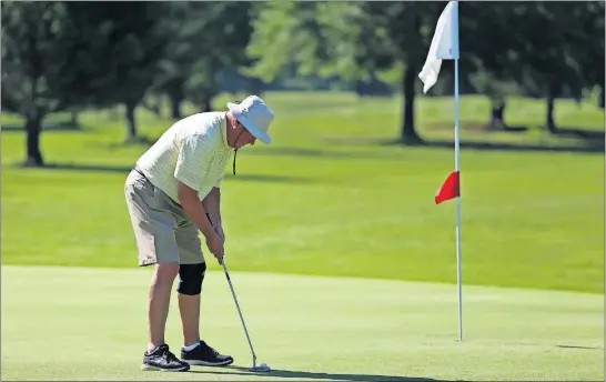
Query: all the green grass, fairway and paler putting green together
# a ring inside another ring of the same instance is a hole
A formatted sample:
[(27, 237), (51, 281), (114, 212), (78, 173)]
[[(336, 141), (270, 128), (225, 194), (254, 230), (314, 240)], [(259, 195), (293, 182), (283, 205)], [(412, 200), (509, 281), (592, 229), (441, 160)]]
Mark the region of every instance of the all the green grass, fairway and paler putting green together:
[[(544, 102), (533, 100), (508, 101), (506, 120), (526, 132), (482, 133), (488, 102), (463, 98), (462, 140), (509, 149), (462, 150), (459, 343), (455, 203), (433, 201), (452, 145), (385, 144), (398, 135), (398, 99), (265, 99), (274, 143), (239, 153), (222, 210), (232, 281), (259, 362), (273, 372), (238, 369), (251, 356), (214, 261), (202, 334), (236, 368), (139, 370), (150, 270), (133, 269), (123, 181), (145, 147), (121, 144), (120, 115), (88, 112), (82, 130), (42, 135), (55, 168), (17, 167), (24, 135), (2, 133), (3, 379), (604, 380), (604, 154), (583, 151), (596, 141), (545, 133)], [(425, 139), (453, 139), (452, 99), (416, 108)], [(138, 118), (151, 139), (170, 124)], [(604, 112), (558, 101), (556, 121), (603, 130)], [(3, 127), (20, 122), (2, 114)], [(174, 300), (166, 339), (181, 345)]]

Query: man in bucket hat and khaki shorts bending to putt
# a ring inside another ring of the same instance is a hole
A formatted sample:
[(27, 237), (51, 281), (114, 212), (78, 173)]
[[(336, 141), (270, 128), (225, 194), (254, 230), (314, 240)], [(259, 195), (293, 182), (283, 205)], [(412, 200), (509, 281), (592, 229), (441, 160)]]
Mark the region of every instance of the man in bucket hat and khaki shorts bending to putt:
[[(190, 365), (233, 362), (200, 339), (200, 293), (206, 270), (199, 231), (221, 262), (225, 233), (221, 183), (225, 168), (246, 144), (271, 142), (273, 112), (251, 96), (228, 111), (204, 112), (175, 122), (137, 161), (124, 184), (139, 267), (153, 265), (148, 296), (148, 349), (142, 370), (186, 371)], [(208, 215), (206, 215), (208, 214)], [(210, 218), (210, 219), (209, 219)], [(164, 339), (171, 290), (176, 286), (183, 329), (181, 360)]]

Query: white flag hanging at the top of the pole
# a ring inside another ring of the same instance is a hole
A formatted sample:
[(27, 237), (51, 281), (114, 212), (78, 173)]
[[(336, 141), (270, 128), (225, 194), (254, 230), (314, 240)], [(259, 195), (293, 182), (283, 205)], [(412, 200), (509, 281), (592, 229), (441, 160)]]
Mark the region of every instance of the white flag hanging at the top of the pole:
[(430, 53), (418, 78), (423, 81), (423, 93), (436, 82), (442, 60), (458, 60), (458, 2), (448, 1), (435, 27)]

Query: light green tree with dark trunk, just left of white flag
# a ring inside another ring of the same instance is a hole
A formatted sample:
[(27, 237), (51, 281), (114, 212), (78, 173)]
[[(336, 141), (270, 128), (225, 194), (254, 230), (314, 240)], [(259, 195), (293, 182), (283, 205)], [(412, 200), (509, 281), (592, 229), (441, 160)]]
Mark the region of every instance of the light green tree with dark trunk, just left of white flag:
[[(299, 76), (368, 80), (401, 63), (402, 140), (418, 143), (414, 127), (417, 73), (442, 2), (270, 2), (254, 24), (252, 72), (275, 79), (294, 64)], [(432, 28), (425, 26), (432, 24)]]

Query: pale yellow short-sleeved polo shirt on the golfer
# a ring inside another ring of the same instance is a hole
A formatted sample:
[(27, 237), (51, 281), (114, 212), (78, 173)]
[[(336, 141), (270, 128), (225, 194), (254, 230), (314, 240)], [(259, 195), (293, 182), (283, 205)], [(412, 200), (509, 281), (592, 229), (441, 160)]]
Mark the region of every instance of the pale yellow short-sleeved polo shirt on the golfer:
[(175, 122), (137, 165), (176, 203), (179, 181), (196, 190), (202, 200), (213, 187), (221, 185), (232, 151), (226, 113), (198, 113)]

